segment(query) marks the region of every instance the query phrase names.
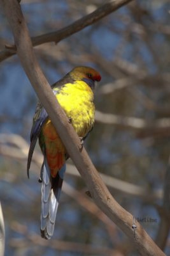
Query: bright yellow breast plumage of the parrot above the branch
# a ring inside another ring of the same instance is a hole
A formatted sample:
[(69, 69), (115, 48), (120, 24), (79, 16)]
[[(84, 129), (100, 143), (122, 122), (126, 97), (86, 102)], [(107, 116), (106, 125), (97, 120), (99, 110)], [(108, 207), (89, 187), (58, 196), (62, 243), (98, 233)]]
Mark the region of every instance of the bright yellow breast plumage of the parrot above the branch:
[(83, 81), (67, 83), (56, 93), (56, 97), (66, 115), (71, 118), (78, 136), (84, 137), (94, 125), (94, 94), (90, 86)]

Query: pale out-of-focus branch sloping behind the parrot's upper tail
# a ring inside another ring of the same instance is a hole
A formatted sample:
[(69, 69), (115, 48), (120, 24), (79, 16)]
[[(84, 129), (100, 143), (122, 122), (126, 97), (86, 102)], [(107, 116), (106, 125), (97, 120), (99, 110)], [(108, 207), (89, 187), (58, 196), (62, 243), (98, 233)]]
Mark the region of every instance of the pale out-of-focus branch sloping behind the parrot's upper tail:
[[(18, 134), (0, 134), (0, 154), (4, 157), (10, 157), (17, 159), (18, 161), (27, 161), (29, 151), (29, 144)], [(37, 150), (34, 150), (34, 155), (32, 157), (32, 163), (36, 163), (38, 168), (41, 168), (43, 163), (43, 156)], [(25, 163), (24, 163), (25, 164)], [(81, 177), (77, 172), (73, 164), (67, 163), (66, 175), (74, 175), (76, 177)], [(104, 183), (114, 191), (118, 191), (123, 196), (136, 196), (141, 197), (145, 202), (155, 202), (155, 200), (162, 200), (163, 190), (157, 189), (155, 191), (150, 191), (143, 186), (132, 184), (124, 180), (111, 177), (104, 173), (100, 173)]]

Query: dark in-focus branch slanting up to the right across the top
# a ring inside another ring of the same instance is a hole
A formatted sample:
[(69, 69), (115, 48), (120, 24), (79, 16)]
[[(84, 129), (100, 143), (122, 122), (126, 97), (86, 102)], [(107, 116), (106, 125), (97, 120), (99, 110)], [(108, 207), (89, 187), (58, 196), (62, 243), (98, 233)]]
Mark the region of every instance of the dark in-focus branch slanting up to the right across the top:
[[(98, 20), (103, 19), (103, 17), (106, 17), (111, 12), (114, 12), (121, 6), (131, 1), (132, 0), (111, 0), (109, 3), (103, 4), (103, 6), (100, 6), (94, 12), (82, 17), (81, 19), (76, 20), (65, 28), (51, 33), (46, 33), (44, 35), (32, 37), (32, 45), (37, 46), (49, 42), (55, 42), (55, 44), (57, 44), (62, 39), (67, 38), (68, 36), (73, 35), (81, 29), (94, 24)], [(6, 48), (8, 49), (0, 52), (0, 61), (6, 60), (6, 58), (9, 58), (10, 56), (16, 54), (16, 45), (7, 45)]]

